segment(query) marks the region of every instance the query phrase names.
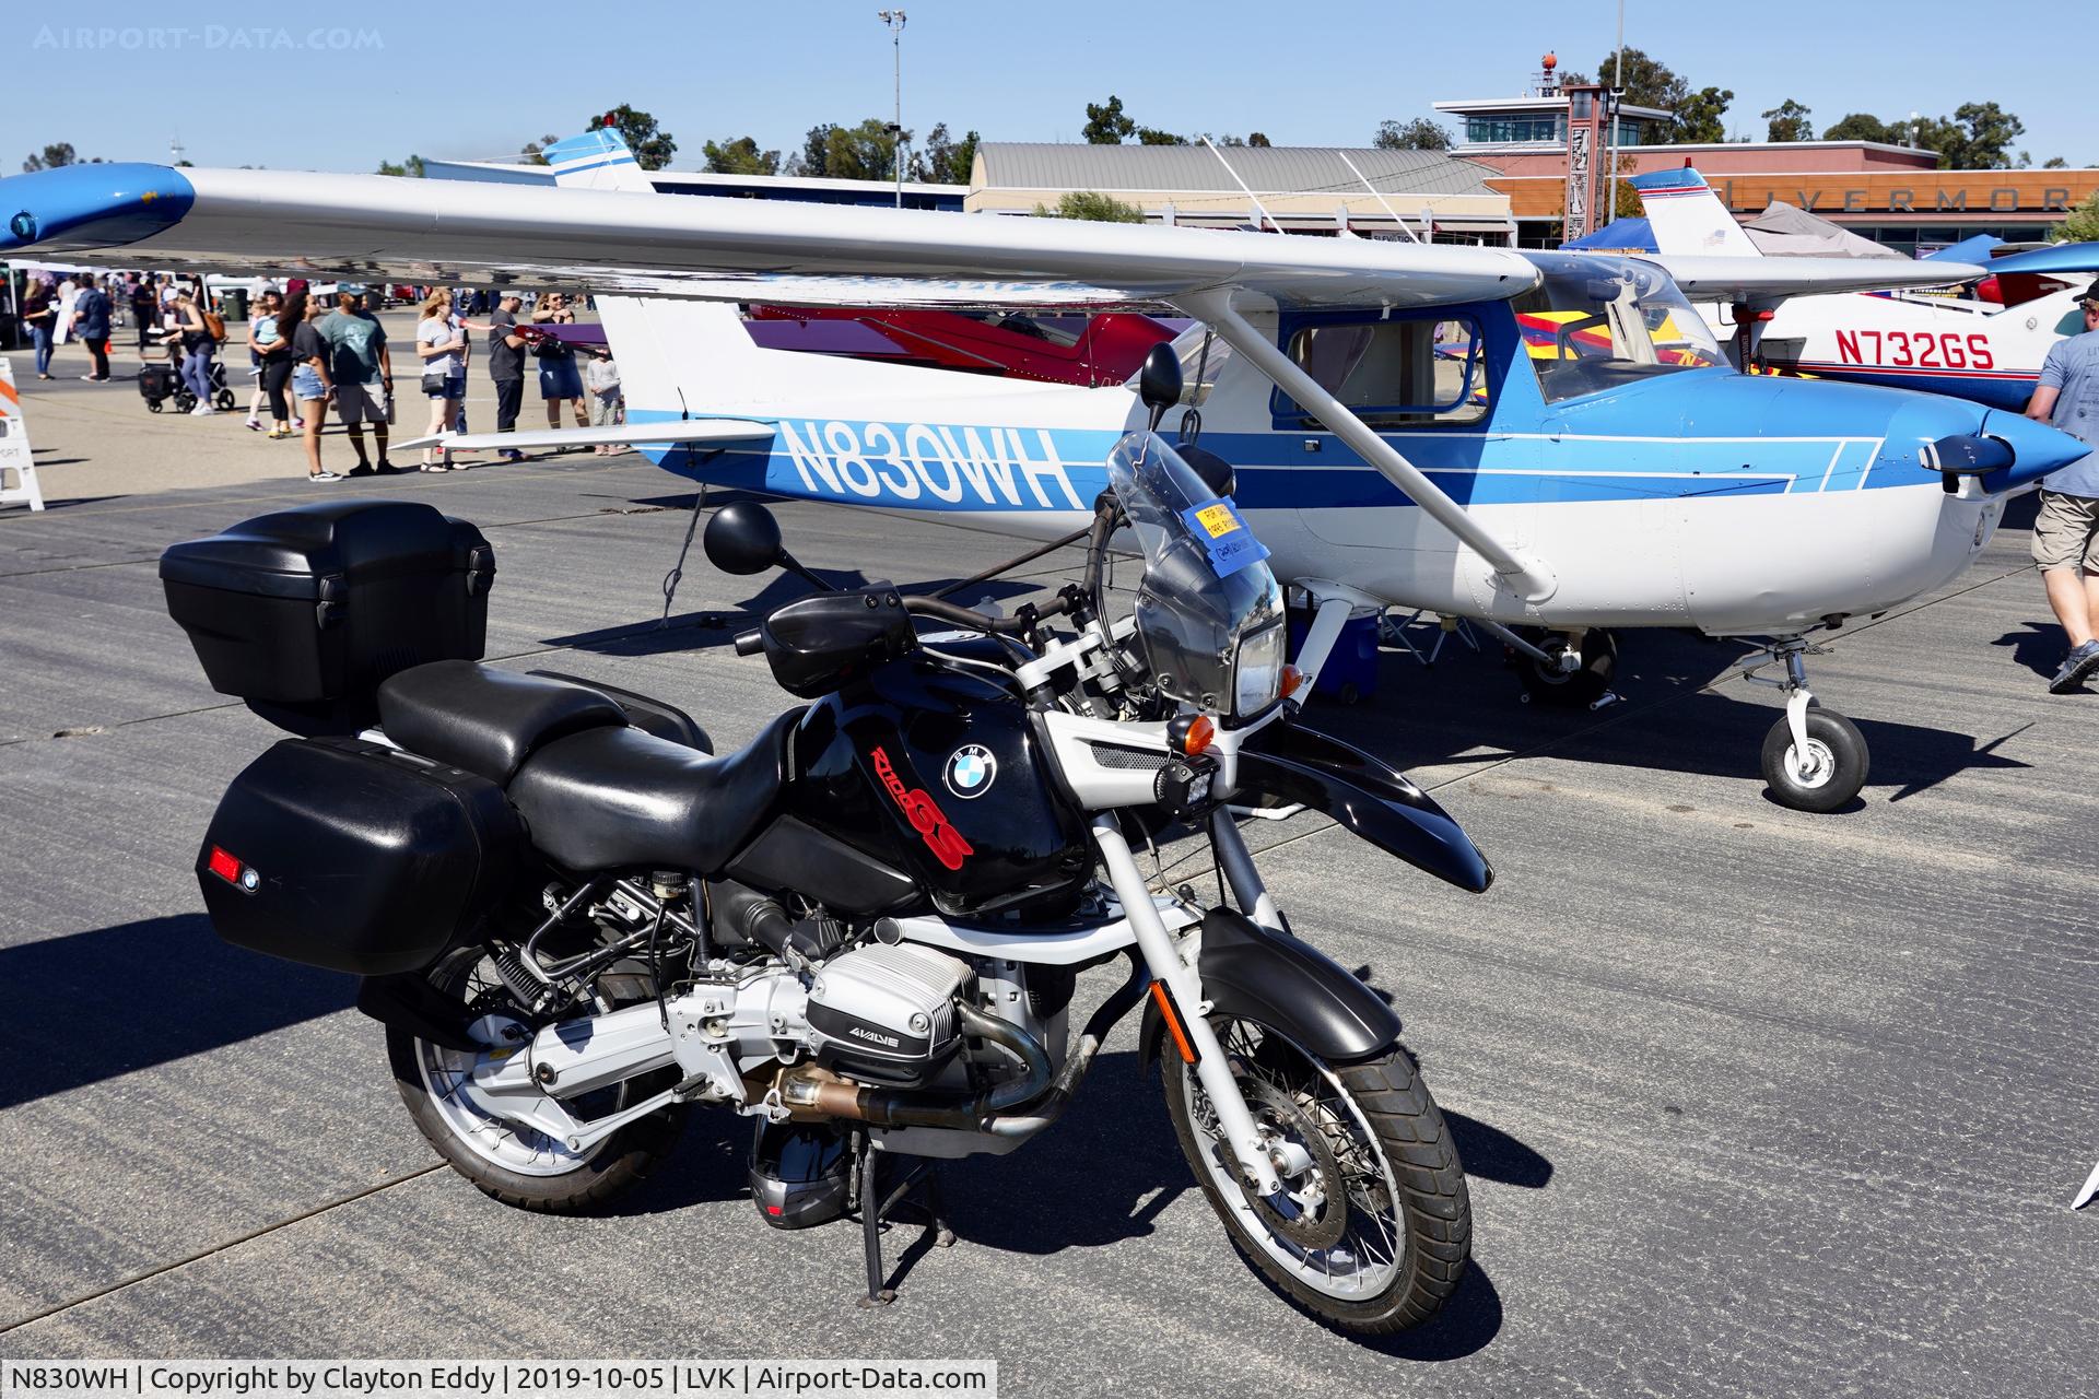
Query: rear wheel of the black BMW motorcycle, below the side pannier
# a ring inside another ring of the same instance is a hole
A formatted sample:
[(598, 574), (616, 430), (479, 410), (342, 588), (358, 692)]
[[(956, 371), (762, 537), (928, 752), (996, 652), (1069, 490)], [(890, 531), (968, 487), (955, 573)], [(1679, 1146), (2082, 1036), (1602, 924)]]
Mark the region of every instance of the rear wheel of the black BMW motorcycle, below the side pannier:
[[(483, 1011), (476, 1026), (527, 1028), (502, 988), (502, 980), (481, 948), (460, 948), (430, 971), (430, 984), (447, 996)], [(485, 1196), (521, 1210), (546, 1214), (588, 1214), (640, 1185), (678, 1143), (684, 1126), (680, 1107), (653, 1112), (617, 1133), (571, 1152), (565, 1143), (514, 1126), (474, 1107), (460, 1091), (474, 1066), (443, 1045), (430, 1045), (405, 1030), (386, 1028), (386, 1057), (407, 1116), (445, 1162)], [(598, 1095), (571, 1099), (577, 1116), (615, 1112), (630, 1095), (646, 1097), (663, 1084), (655, 1076), (632, 1080)], [(602, 1101), (600, 1101), (602, 1099)]]

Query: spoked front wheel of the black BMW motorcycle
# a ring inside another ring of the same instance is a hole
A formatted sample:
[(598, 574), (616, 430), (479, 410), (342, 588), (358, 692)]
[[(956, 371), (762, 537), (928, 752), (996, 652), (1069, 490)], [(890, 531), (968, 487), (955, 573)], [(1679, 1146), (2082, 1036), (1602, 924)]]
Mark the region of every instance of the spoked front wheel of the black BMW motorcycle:
[(1293, 1303), (1348, 1332), (1421, 1326), (1471, 1256), (1457, 1143), (1404, 1045), (1329, 1066), (1280, 1030), (1211, 1017), (1247, 1107), (1285, 1158), (1261, 1198), (1222, 1141), (1192, 1066), (1165, 1055), (1167, 1116), (1238, 1250)]

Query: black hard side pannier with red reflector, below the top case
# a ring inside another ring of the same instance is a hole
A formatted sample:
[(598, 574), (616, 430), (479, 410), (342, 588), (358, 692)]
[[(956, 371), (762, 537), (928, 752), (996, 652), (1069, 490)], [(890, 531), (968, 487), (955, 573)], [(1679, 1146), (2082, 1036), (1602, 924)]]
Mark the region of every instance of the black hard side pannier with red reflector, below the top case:
[(485, 778), (359, 738), (285, 738), (218, 801), (197, 883), (231, 944), (390, 975), (472, 938), (523, 854), (525, 822)]

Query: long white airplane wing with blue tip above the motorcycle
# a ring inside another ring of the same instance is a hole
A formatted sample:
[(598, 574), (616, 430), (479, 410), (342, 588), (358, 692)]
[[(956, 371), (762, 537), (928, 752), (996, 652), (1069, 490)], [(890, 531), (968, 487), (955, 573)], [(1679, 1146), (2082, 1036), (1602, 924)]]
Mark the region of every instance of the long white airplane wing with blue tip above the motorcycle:
[(1492, 247), (143, 164), (10, 176), (0, 218), (0, 256), (802, 304), (1123, 306), (1232, 287), (1438, 306), (1539, 281)]

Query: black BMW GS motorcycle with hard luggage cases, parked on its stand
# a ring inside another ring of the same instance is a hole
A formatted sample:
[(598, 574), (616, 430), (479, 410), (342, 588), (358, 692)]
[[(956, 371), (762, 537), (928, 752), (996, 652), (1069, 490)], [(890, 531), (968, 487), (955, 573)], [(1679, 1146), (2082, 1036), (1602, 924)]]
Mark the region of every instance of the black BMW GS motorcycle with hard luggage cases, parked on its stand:
[[(1154, 430), (1178, 380), (1146, 365)], [(204, 839), (214, 927), (357, 973), (416, 1126), (508, 1204), (600, 1206), (691, 1107), (751, 1118), (760, 1214), (856, 1212), (863, 1303), (892, 1296), (907, 1196), (951, 1242), (930, 1162), (1047, 1133), (1142, 1007), (1241, 1252), (1331, 1326), (1421, 1323), (1469, 1254), (1457, 1147), (1385, 996), (1297, 938), (1234, 808), (1324, 812), (1473, 891), (1490, 870), (1402, 774), (1293, 724), (1308, 686), (1230, 468), (1154, 430), (1110, 455), (1085, 577), (1010, 617), (827, 589), (764, 508), (716, 512), (716, 566), (814, 589), (737, 636), (800, 703), (728, 755), (661, 701), (479, 665), (493, 554), (428, 505), (174, 545), (214, 686), (298, 734)], [(1133, 845), (1167, 828), (1207, 835), (1215, 902), (1146, 877)], [(1079, 975), (1117, 963), (1073, 1034)]]

